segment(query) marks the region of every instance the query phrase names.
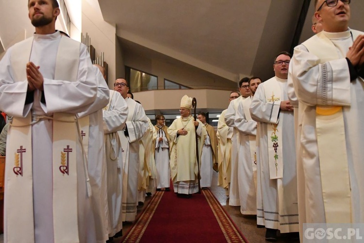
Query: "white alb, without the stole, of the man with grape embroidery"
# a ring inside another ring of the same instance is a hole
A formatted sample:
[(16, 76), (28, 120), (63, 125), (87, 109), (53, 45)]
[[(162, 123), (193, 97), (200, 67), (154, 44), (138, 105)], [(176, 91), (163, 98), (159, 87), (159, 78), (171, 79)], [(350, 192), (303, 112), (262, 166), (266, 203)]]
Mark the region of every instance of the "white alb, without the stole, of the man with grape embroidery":
[[(270, 81), (270, 82), (268, 82)], [(291, 111), (273, 109), (288, 100), (287, 80), (273, 77), (258, 86), (250, 105), (250, 114), (259, 123), (257, 128), (257, 224), (279, 229), (282, 233), (298, 232), (298, 199), (295, 153), (294, 116)], [(277, 85), (281, 89), (281, 100), (268, 103), (265, 85)], [(273, 120), (281, 123), (283, 177), (270, 179), (268, 165), (268, 124)]]

